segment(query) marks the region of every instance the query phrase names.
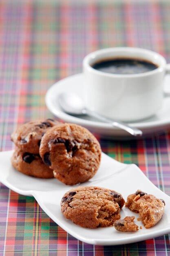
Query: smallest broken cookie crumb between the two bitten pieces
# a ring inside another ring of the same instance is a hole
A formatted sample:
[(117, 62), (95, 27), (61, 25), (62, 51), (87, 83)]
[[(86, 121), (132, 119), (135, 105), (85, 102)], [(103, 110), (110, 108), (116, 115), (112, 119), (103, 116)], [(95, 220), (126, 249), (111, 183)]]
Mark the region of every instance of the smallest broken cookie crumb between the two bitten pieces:
[(139, 227), (133, 222), (135, 216), (126, 216), (123, 220), (116, 220), (114, 227), (117, 231), (132, 232), (139, 230)]

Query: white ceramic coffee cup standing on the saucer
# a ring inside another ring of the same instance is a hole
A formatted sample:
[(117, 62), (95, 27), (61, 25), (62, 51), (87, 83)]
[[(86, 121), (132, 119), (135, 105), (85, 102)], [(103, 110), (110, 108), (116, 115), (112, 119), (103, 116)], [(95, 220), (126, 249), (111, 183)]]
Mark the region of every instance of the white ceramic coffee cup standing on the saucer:
[[(111, 74), (92, 65), (102, 59), (137, 58), (155, 63), (155, 70), (140, 74)], [(170, 64), (156, 52), (115, 47), (88, 54), (83, 60), (86, 106), (111, 119), (136, 121), (154, 115), (163, 103), (163, 79)]]

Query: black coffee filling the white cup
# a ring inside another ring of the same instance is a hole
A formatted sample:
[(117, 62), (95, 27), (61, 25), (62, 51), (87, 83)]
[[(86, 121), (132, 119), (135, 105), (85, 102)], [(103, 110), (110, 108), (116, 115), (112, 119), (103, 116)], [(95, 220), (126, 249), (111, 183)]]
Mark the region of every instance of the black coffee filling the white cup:
[(92, 67), (95, 70), (111, 74), (139, 74), (155, 70), (158, 66), (141, 59), (115, 58), (101, 60), (93, 64)]

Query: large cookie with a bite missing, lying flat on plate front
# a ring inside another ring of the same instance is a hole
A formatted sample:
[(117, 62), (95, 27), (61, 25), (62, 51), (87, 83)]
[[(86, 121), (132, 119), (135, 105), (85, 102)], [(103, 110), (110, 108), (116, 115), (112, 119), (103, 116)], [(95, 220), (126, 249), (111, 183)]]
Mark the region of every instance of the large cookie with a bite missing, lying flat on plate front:
[(116, 191), (97, 186), (82, 186), (65, 193), (63, 215), (81, 227), (95, 229), (113, 225), (120, 216), (124, 199)]

